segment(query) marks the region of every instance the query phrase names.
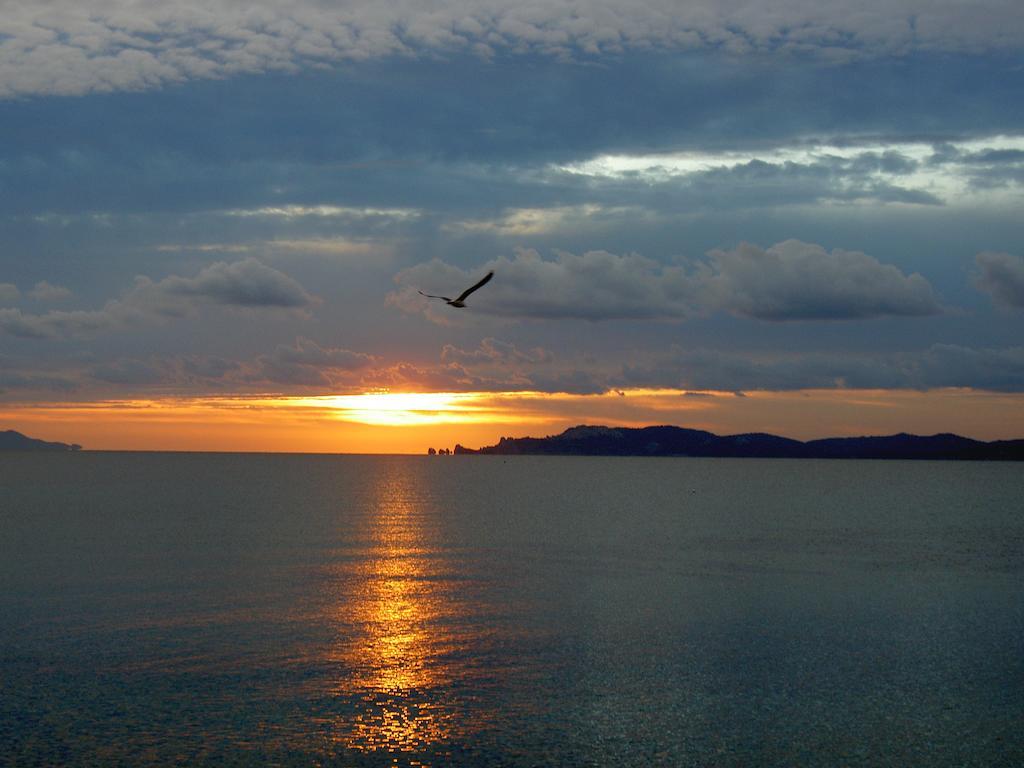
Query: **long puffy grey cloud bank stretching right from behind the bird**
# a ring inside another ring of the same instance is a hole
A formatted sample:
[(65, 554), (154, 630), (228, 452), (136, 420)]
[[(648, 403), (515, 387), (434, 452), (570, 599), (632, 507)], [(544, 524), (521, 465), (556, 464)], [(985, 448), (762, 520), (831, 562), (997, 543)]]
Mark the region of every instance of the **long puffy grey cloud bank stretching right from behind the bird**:
[[(520, 250), (481, 267), (499, 279), (473, 297), (480, 312), (519, 318), (683, 319), (727, 311), (764, 321), (864, 319), (936, 314), (929, 282), (857, 251), (826, 251), (785, 241), (768, 249), (741, 244), (706, 260), (664, 265), (636, 254), (557, 253), (553, 260)], [(417, 294), (471, 285), (475, 273), (433, 260), (395, 275), (388, 301), (404, 311), (451, 315)]]

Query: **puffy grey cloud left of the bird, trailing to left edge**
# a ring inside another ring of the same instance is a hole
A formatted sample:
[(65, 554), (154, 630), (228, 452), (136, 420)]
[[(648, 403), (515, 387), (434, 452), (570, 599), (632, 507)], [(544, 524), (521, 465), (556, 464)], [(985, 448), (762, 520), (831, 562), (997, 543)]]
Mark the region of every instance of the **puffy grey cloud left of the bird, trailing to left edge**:
[(195, 278), (139, 276), (130, 291), (101, 309), (41, 314), (0, 309), (0, 333), (25, 338), (88, 336), (137, 323), (182, 317), (203, 305), (305, 312), (317, 299), (295, 280), (256, 259), (215, 262)]

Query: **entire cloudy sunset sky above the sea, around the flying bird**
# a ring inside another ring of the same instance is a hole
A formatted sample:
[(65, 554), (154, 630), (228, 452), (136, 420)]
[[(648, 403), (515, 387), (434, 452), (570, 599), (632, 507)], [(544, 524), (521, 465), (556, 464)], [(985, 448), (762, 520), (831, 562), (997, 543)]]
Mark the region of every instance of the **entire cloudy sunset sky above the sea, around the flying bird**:
[(1018, 0), (0, 0), (0, 429), (1024, 437), (1022, 191)]

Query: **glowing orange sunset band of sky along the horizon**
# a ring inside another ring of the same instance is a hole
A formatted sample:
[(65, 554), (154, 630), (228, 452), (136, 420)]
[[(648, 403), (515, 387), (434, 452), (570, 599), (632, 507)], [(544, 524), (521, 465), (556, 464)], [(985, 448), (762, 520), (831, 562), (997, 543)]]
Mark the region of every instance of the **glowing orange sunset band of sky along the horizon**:
[(556, 434), (578, 424), (674, 424), (798, 439), (898, 431), (1007, 439), (1024, 433), (1024, 395), (972, 389), (374, 391), (8, 403), (0, 418), (8, 428), (92, 450), (422, 454), (457, 442), (479, 447), (502, 436)]

